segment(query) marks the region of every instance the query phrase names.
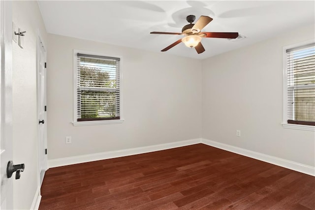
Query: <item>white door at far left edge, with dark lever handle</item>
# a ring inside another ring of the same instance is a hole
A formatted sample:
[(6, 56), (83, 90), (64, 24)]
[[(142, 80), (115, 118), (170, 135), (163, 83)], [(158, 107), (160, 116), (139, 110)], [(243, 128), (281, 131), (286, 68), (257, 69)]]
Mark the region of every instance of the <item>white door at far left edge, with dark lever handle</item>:
[(0, 208), (13, 209), (13, 179), (6, 167), (12, 149), (12, 3), (0, 0)]

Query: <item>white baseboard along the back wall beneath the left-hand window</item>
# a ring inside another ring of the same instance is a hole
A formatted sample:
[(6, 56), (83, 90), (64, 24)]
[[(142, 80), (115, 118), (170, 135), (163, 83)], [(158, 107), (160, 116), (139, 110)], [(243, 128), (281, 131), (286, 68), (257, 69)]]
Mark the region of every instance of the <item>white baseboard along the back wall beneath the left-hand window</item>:
[(105, 159), (110, 159), (110, 158), (124, 157), (128, 155), (137, 155), (137, 154), (142, 154), (142, 153), (147, 153), (147, 152), (155, 152), (155, 151), (164, 150), (164, 149), (188, 146), (188, 145), (192, 145), (196, 143), (201, 143), (201, 139), (175, 141), (171, 143), (156, 144), (152, 146), (143, 146), (143, 147), (136, 147), (136, 148), (131, 148), (131, 149), (123, 149), (123, 150), (101, 152), (101, 153), (94, 153), (94, 154), (88, 154), (88, 155), (52, 159), (52, 160), (48, 160), (48, 168), (67, 166), (67, 165), (72, 165), (72, 164), (77, 164), (77, 163), (86, 163), (86, 162), (91, 162), (91, 161), (96, 161), (96, 160), (105, 160)]

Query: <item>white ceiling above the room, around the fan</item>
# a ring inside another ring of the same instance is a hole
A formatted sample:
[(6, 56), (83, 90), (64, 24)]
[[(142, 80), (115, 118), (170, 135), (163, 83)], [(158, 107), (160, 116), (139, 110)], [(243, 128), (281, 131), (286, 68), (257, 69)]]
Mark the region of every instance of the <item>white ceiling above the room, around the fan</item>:
[[(38, 1), (48, 33), (95, 40), (159, 53), (204, 59), (272, 36), (315, 24), (315, 1)], [(197, 54), (180, 43), (161, 49), (181, 35), (188, 15), (213, 18), (203, 32), (238, 32), (247, 38), (203, 38), (205, 52)]]

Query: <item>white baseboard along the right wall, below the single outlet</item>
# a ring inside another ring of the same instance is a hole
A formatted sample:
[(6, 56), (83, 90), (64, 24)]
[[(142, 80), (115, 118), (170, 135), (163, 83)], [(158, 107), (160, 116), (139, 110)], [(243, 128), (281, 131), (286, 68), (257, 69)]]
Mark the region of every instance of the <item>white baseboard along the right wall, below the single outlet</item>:
[(282, 158), (278, 158), (278, 157), (274, 157), (274, 156), (270, 156), (270, 155), (266, 155), (266, 154), (262, 154), (259, 152), (254, 152), (248, 149), (243, 149), (240, 147), (236, 147), (236, 146), (231, 146), (225, 143), (220, 143), (217, 141), (213, 141), (213, 140), (206, 140), (206, 139), (201, 139), (201, 143), (209, 145), (209, 146), (213, 146), (213, 147), (217, 147), (226, 151), (230, 151), (230, 152), (234, 152), (240, 155), (244, 155), (247, 157), (251, 157), (257, 160), (261, 160), (267, 163), (271, 163), (277, 166), (281, 166), (287, 169), (291, 169), (297, 172), (301, 172), (307, 175), (313, 175), (315, 176), (315, 167), (312, 166), (308, 166), (308, 165), (304, 165), (301, 163), (296, 163), (293, 161), (289, 161), (289, 160), (285, 160)]

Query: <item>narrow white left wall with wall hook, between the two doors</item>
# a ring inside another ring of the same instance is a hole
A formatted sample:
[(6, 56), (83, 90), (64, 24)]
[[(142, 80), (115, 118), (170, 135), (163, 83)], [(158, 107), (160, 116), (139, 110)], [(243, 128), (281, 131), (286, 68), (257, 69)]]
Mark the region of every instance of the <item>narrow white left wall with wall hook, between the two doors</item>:
[[(21, 178), (14, 180), (14, 209), (30, 209), (38, 187), (36, 42), (39, 29), (47, 33), (36, 1), (13, 1), (13, 22), (26, 31), (24, 49), (13, 41), (13, 161), (24, 163)], [(47, 42), (47, 41), (46, 41)], [(14, 175), (13, 175), (14, 176)], [(14, 177), (13, 177), (14, 178)]]

